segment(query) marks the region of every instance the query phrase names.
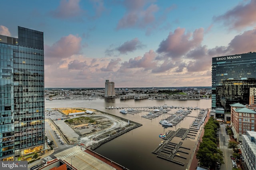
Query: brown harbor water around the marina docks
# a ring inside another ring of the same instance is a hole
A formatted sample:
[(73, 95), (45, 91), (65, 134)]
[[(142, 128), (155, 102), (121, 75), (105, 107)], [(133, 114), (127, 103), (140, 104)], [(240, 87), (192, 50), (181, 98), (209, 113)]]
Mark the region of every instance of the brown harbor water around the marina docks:
[[(141, 123), (138, 127), (124, 135), (100, 146), (96, 149), (99, 154), (121, 164), (130, 170), (185, 170), (191, 158), (192, 151), (196, 145), (196, 140), (199, 132), (195, 134), (195, 139), (186, 138), (181, 140), (180, 137), (174, 137), (172, 143), (182, 142), (182, 147), (190, 148), (189, 154), (182, 154), (186, 159), (175, 157), (176, 160), (184, 162), (184, 166), (169, 162), (158, 158), (152, 151), (158, 147), (163, 141), (159, 138), (159, 134), (164, 134), (170, 130), (176, 131), (178, 128), (188, 129), (200, 110), (192, 110), (178, 125), (164, 128), (159, 124), (163, 118), (176, 113), (177, 109), (171, 109), (166, 114), (162, 114), (155, 119), (146, 119), (142, 115), (146, 115), (148, 111), (144, 107), (153, 106), (178, 106), (178, 107), (199, 107), (208, 109), (211, 107), (211, 100), (120, 100), (116, 99), (95, 99), (95, 100), (45, 100), (45, 108), (60, 108), (60, 107), (84, 107), (104, 111), (119, 117), (124, 117), (128, 120)], [(126, 107), (141, 110), (134, 114), (122, 114), (119, 109), (108, 109), (109, 106)], [(186, 109), (185, 109), (186, 110)]]

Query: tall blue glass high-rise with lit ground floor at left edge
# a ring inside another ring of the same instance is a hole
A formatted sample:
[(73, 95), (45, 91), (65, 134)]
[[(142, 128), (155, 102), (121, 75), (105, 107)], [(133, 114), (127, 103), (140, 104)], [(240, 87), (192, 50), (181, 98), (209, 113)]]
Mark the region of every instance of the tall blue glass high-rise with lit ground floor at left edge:
[(44, 34), (0, 35), (0, 160), (44, 149)]

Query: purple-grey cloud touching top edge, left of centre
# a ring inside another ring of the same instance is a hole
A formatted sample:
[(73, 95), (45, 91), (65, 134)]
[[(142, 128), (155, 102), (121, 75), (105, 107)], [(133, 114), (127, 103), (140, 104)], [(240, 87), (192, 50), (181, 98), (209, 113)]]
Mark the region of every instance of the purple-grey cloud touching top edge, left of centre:
[(80, 0), (61, 0), (60, 6), (50, 14), (55, 18), (66, 19), (82, 16), (85, 13), (79, 6)]

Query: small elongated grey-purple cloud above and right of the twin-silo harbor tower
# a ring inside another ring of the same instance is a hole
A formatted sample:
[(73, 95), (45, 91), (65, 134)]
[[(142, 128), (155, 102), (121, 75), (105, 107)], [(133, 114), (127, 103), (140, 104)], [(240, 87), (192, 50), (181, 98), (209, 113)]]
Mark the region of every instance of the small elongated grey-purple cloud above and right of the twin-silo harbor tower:
[(118, 51), (120, 54), (127, 54), (128, 52), (133, 52), (137, 49), (142, 49), (143, 47), (145, 47), (145, 45), (143, 45), (138, 38), (134, 38), (130, 41), (124, 42), (122, 45), (116, 47), (115, 49), (106, 49), (105, 54), (112, 56), (114, 55), (115, 51)]

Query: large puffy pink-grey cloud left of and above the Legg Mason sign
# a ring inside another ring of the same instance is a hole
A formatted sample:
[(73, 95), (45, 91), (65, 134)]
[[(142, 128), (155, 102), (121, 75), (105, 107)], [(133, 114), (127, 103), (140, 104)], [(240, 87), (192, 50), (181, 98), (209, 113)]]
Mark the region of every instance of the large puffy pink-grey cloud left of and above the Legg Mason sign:
[(158, 53), (164, 53), (167, 57), (176, 60), (185, 55), (188, 51), (198, 47), (204, 36), (204, 29), (196, 29), (193, 33), (185, 33), (184, 28), (177, 28), (174, 33), (170, 32), (163, 40), (158, 49)]

